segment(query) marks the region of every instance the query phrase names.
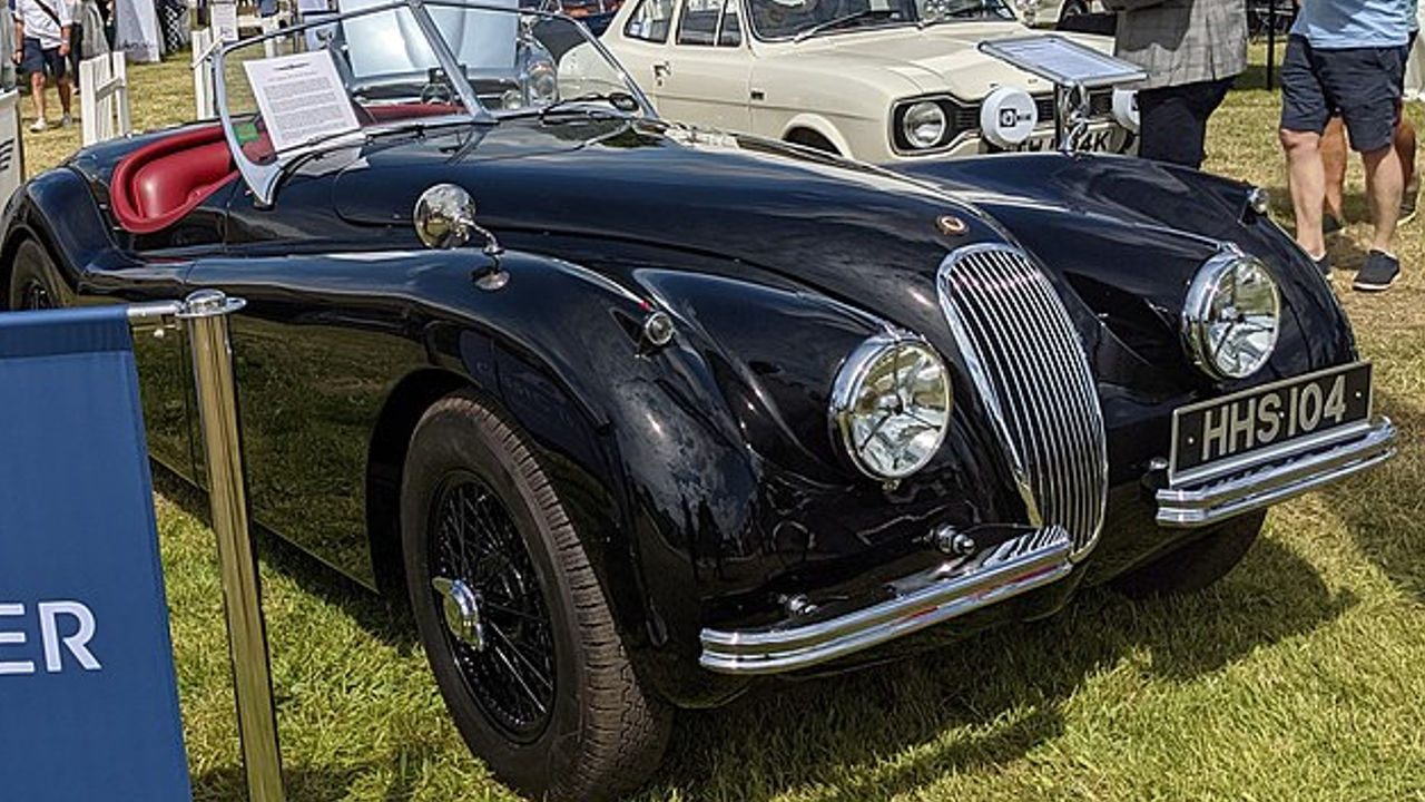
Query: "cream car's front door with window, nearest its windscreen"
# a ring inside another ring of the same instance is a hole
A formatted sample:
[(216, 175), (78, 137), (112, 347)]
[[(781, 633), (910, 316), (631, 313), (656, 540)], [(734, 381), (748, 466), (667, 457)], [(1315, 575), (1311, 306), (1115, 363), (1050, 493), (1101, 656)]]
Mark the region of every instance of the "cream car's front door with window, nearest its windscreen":
[(677, 0), (678, 24), (658, 83), (658, 113), (668, 120), (751, 128), (752, 51), (740, 0)]

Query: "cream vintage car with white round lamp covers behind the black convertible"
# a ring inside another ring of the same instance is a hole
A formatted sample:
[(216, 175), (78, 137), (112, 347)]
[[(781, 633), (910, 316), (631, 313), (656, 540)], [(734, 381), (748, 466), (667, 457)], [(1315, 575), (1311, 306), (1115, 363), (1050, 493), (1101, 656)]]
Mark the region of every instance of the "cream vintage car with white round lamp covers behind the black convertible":
[[(978, 49), (1026, 34), (1002, 0), (628, 0), (601, 39), (665, 118), (896, 163), (1053, 147), (1053, 86)], [(1086, 150), (1133, 147), (1092, 108)]]

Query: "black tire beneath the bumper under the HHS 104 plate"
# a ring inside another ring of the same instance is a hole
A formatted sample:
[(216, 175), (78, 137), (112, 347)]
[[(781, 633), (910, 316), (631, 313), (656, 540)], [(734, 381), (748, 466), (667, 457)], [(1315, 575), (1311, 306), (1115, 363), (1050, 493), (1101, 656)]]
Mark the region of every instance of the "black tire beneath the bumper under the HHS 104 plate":
[(1134, 599), (1196, 594), (1221, 579), (1257, 542), (1265, 512), (1233, 518), (1180, 548), (1127, 574), (1116, 577), (1113, 588)]

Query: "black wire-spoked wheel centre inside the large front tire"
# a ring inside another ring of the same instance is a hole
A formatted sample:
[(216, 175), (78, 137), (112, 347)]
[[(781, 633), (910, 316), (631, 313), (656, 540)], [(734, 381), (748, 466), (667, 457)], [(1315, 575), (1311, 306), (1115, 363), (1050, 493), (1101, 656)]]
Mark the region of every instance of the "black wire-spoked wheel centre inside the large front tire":
[(477, 608), (477, 638), (446, 626), (460, 676), (492, 724), (533, 741), (549, 724), (556, 671), (553, 622), (524, 539), (489, 485), (463, 471), (443, 482), (429, 521), (428, 587), (455, 585)]

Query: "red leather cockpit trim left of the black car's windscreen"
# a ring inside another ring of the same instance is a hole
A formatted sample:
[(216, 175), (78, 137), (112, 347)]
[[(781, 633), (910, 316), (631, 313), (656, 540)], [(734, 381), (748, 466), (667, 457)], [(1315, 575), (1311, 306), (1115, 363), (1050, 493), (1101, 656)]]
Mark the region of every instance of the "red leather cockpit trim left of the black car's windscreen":
[(110, 178), (118, 224), (134, 234), (172, 225), (237, 177), (221, 126), (190, 128), (125, 156)]

